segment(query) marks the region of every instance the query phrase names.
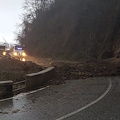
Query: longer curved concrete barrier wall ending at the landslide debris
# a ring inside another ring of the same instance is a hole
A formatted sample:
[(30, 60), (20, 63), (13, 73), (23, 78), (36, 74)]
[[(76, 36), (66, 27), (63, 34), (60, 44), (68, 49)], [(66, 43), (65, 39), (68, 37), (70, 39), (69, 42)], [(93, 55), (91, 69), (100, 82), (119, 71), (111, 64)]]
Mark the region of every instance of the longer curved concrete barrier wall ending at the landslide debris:
[(49, 67), (43, 71), (26, 75), (26, 91), (34, 90), (55, 77), (55, 68)]

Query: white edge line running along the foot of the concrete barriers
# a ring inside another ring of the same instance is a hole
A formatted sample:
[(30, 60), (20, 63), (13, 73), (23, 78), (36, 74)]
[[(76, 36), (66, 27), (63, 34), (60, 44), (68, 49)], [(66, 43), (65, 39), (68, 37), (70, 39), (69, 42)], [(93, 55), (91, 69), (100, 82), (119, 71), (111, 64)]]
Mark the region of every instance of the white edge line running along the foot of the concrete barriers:
[(20, 94), (18, 94), (18, 95), (16, 95), (16, 96), (13, 96), (13, 97), (10, 97), (10, 98), (1, 99), (0, 102), (7, 101), (7, 100), (12, 100), (12, 99), (16, 99), (17, 97), (23, 97), (23, 96), (29, 95), (29, 94), (34, 94), (34, 93), (36, 93), (36, 92), (38, 92), (38, 91), (42, 91), (42, 90), (44, 90), (44, 89), (46, 89), (46, 88), (48, 88), (48, 87), (49, 87), (49, 86), (46, 86), (46, 87), (44, 87), (44, 88), (40, 88), (40, 89), (38, 89), (38, 90), (26, 92), (26, 93), (20, 93)]

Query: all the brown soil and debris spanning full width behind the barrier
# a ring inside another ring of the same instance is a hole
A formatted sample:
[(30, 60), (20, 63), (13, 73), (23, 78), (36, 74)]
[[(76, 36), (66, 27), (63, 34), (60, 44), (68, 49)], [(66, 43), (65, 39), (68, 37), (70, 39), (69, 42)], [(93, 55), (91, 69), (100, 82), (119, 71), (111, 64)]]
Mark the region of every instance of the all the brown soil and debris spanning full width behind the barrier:
[(0, 59), (0, 81), (12, 80), (13, 82), (19, 82), (25, 80), (26, 74), (35, 73), (50, 66), (55, 67), (56, 77), (45, 83), (44, 86), (64, 84), (66, 80), (71, 79), (120, 75), (120, 58), (63, 61), (29, 57), (29, 60), (33, 62)]

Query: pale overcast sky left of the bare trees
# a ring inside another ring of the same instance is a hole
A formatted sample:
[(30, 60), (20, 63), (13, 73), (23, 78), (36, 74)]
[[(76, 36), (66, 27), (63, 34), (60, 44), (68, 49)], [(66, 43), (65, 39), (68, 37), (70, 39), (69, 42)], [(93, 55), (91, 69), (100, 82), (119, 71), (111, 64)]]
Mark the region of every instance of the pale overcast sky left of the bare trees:
[(12, 42), (15, 38), (16, 25), (21, 23), (24, 0), (0, 0), (0, 42), (3, 38)]

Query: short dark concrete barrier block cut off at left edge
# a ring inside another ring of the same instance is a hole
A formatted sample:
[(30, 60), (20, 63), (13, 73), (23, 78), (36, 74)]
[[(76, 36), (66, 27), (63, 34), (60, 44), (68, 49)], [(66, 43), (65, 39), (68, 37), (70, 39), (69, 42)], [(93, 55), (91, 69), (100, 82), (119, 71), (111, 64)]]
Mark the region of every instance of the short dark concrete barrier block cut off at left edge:
[(0, 99), (13, 96), (13, 81), (0, 81)]

